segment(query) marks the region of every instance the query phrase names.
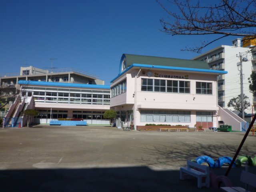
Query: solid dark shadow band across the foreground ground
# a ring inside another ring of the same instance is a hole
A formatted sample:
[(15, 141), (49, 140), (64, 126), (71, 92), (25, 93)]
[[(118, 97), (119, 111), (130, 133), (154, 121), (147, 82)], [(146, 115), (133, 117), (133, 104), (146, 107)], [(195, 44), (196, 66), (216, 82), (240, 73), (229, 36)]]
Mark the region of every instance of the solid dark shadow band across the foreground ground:
[[(244, 168), (232, 169), (232, 182), (239, 182)], [(255, 169), (254, 169), (255, 170)], [(219, 169), (221, 175), (226, 169)], [(214, 192), (197, 188), (196, 178), (180, 180), (179, 171), (154, 171), (148, 167), (1, 170), (1, 192)]]

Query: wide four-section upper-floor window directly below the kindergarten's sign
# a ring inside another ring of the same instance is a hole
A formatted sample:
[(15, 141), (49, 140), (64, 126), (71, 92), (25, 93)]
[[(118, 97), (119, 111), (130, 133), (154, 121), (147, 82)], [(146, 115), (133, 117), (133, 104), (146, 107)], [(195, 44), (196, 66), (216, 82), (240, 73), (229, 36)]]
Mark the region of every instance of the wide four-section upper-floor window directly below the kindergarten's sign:
[(190, 93), (190, 82), (142, 78), (141, 90), (150, 92)]

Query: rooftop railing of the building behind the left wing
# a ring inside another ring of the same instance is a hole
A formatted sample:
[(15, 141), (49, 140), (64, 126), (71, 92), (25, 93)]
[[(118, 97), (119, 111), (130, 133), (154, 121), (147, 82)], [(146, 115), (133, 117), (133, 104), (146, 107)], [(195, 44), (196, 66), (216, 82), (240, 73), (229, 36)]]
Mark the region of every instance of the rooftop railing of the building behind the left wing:
[[(84, 72), (75, 68), (57, 68), (57, 69), (52, 69), (52, 70), (36, 70), (33, 71), (32, 74), (30, 75), (36, 75), (36, 74), (51, 74), (51, 73), (62, 73), (62, 72), (77, 72), (80, 74), (84, 74), (84, 75), (88, 75), (94, 78), (99, 78), (98, 75), (94, 75), (88, 72)], [(21, 76), (20, 72), (15, 72), (15, 73), (4, 73), (4, 74), (0, 74), (0, 77), (12, 77), (12, 76)]]

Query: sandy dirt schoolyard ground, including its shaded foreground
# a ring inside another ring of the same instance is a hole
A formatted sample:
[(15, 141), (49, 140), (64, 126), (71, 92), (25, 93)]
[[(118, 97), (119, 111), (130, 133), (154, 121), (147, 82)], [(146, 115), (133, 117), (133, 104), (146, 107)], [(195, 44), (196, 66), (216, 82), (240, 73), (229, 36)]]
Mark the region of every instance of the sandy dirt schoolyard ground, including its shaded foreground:
[[(233, 157), (241, 132), (139, 132), (97, 126), (34, 126), (0, 129), (1, 192), (181, 192), (197, 188), (196, 179), (179, 179), (186, 160), (207, 155)], [(256, 156), (249, 135), (240, 155)], [(214, 169), (224, 175), (226, 167)], [(229, 178), (240, 183), (241, 168)], [(256, 174), (255, 167), (249, 172)]]

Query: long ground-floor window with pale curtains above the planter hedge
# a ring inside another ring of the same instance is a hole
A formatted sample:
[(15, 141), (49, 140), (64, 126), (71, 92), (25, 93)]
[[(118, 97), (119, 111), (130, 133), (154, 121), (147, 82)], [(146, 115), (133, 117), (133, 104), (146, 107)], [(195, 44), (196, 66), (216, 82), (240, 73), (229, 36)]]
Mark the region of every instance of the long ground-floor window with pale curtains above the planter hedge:
[(190, 122), (190, 111), (141, 110), (140, 122)]

